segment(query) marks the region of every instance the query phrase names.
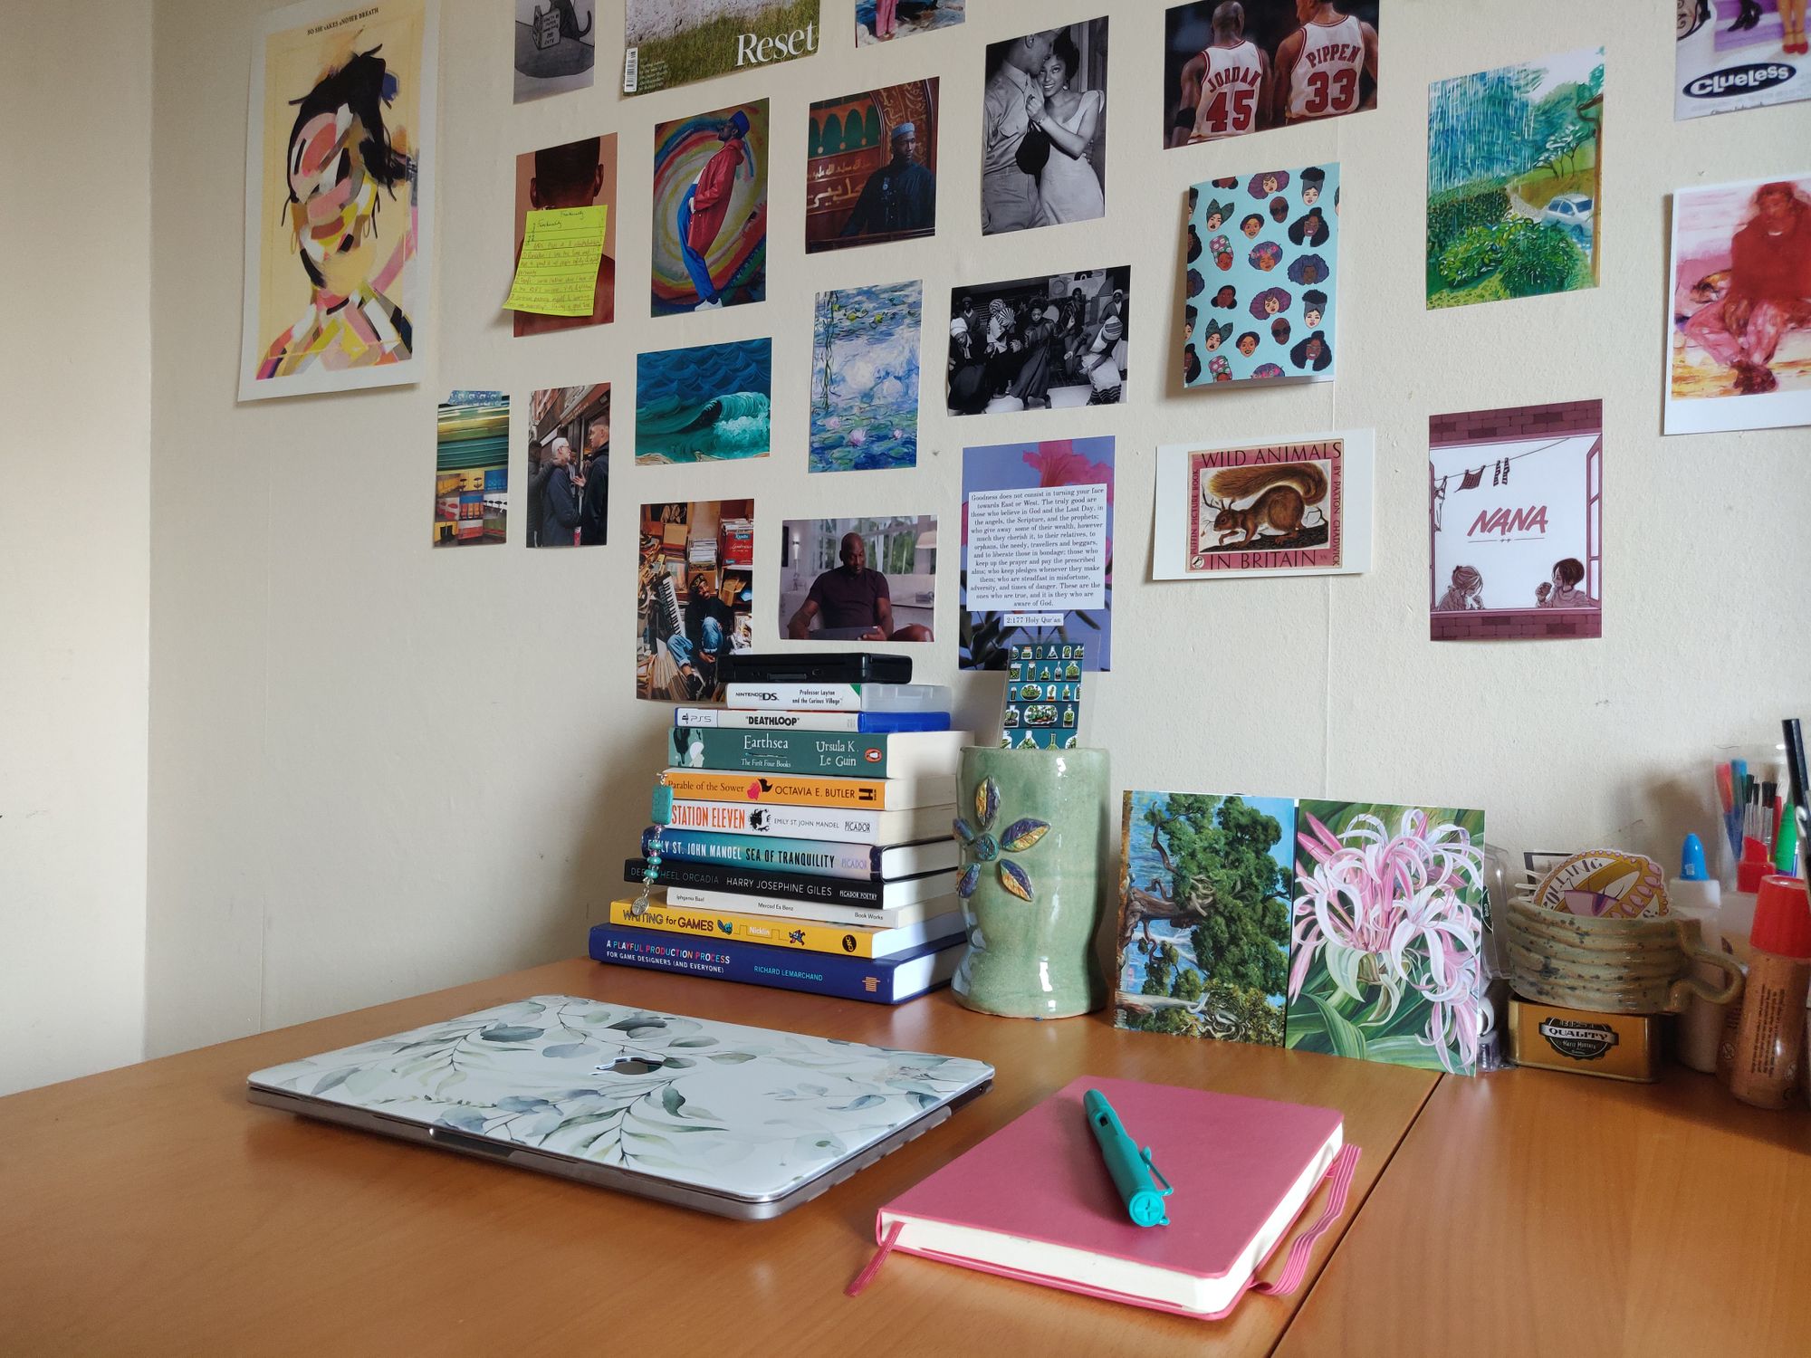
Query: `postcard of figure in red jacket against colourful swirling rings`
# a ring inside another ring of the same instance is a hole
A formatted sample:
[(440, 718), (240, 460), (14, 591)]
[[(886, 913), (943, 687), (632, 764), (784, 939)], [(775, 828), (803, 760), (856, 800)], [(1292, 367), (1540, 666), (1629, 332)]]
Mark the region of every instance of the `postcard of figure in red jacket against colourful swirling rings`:
[(654, 315), (768, 295), (768, 101), (654, 125)]

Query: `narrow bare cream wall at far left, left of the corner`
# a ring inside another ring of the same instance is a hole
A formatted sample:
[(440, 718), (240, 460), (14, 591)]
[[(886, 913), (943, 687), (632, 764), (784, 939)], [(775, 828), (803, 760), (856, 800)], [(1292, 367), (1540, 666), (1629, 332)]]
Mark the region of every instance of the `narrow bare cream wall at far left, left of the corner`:
[(150, 7), (0, 7), (0, 1094), (145, 1047)]

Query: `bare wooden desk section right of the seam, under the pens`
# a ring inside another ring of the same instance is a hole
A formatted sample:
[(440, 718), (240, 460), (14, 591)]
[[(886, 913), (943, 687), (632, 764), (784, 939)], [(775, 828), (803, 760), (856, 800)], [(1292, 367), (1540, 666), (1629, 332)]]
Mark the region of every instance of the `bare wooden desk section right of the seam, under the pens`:
[(1811, 1115), (1711, 1076), (1443, 1079), (1280, 1358), (1811, 1353)]

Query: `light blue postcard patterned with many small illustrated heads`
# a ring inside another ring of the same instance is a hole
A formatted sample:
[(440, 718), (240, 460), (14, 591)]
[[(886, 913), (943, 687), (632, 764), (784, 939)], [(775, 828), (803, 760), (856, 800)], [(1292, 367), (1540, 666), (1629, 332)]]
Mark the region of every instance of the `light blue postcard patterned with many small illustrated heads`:
[(1338, 165), (1190, 188), (1183, 382), (1331, 378), (1338, 263)]

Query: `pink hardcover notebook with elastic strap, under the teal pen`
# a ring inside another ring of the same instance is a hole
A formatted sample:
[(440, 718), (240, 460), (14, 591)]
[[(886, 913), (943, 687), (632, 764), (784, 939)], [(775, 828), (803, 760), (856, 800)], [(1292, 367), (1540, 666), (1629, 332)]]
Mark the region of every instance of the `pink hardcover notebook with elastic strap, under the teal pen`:
[[(1134, 1226), (1114, 1190), (1081, 1095), (1099, 1090), (1175, 1186), (1168, 1226)], [(1300, 1284), (1313, 1238), (1344, 1208), (1358, 1148), (1344, 1146), (1331, 1108), (1083, 1076), (880, 1208), (882, 1253), (1217, 1318), (1331, 1173), (1320, 1222), (1291, 1248), (1284, 1277)], [(896, 1228), (896, 1233), (895, 1233)], [(891, 1238), (889, 1242), (889, 1235)], [(1293, 1277), (1291, 1277), (1293, 1275)], [(851, 1287), (853, 1291), (853, 1287)]]

